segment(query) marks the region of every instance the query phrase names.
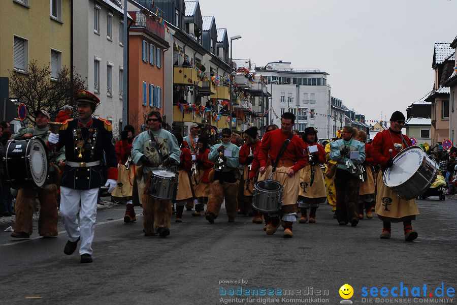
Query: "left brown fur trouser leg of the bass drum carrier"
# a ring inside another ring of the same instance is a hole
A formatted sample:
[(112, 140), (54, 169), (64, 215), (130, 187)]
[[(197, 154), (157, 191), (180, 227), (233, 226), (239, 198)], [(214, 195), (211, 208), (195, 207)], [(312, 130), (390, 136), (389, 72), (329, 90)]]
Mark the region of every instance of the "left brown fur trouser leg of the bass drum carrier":
[(19, 190), (15, 202), (16, 220), (14, 232), (25, 232), (31, 235), (33, 231), (32, 219), (35, 211), (35, 198), (37, 192), (34, 189)]

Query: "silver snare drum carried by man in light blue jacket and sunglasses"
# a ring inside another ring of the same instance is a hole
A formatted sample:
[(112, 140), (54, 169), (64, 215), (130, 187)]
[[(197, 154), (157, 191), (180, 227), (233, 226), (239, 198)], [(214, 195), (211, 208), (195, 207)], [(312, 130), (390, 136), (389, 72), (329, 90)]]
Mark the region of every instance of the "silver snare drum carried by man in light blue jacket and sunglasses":
[(159, 168), (152, 169), (151, 174), (149, 196), (158, 200), (171, 200), (176, 192), (176, 174)]

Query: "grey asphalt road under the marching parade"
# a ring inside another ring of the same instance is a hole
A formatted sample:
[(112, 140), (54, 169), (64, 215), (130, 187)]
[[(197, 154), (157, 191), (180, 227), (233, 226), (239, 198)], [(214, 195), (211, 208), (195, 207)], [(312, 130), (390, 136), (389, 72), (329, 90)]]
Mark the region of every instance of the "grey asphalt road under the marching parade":
[[(419, 237), (410, 243), (401, 224), (392, 225), (391, 239), (379, 239), (382, 223), (376, 217), (355, 228), (338, 226), (329, 205), (319, 207), (316, 224), (295, 223), (291, 239), (280, 230), (266, 235), (250, 217), (228, 223), (224, 210), (215, 224), (185, 211), (169, 237), (144, 237), (142, 216), (124, 224), (124, 206), (118, 205), (97, 214), (91, 264), (81, 264), (78, 251), (63, 254), (67, 236), (60, 223), (57, 238), (43, 239), (35, 231), (27, 241), (13, 240), (3, 226), (0, 303), (336, 304), (345, 283), (353, 287), (353, 303), (370, 302), (362, 297), (363, 287), (390, 290), (401, 282), (409, 293), (424, 284), (427, 293), (435, 294), (441, 283), (445, 291), (457, 290), (457, 200), (417, 202), (421, 215), (413, 227)], [(282, 296), (245, 295), (246, 289), (269, 288), (281, 289)], [(230, 289), (242, 296), (221, 296)], [(394, 303), (389, 299), (371, 302)], [(452, 299), (447, 302), (457, 303)]]

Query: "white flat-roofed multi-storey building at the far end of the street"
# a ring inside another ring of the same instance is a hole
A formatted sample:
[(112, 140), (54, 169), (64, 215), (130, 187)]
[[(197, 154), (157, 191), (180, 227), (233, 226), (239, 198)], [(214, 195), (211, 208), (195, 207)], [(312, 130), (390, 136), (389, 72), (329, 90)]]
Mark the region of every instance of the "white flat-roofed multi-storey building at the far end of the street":
[(331, 138), (331, 88), (327, 83), (330, 74), (317, 69), (293, 69), (290, 64), (279, 60), (256, 69), (257, 75), (267, 78), (267, 87), (272, 94), (270, 123), (280, 126), (281, 114), (290, 111), (296, 115), (295, 129), (303, 131), (314, 127), (319, 137)]

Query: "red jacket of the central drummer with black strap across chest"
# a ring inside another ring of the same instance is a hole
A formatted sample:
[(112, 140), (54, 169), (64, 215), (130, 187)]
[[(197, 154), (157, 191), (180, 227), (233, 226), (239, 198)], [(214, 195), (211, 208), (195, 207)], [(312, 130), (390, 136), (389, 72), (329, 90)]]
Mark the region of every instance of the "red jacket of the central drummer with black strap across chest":
[[(269, 156), (272, 160), (272, 163), (276, 160), (279, 151), (281, 150), (282, 144), (285, 142), (288, 136), (289, 134), (283, 133), (281, 129), (270, 131), (264, 135), (258, 154), (260, 167), (267, 165)], [(293, 135), (289, 145), (287, 145), (287, 148), (280, 159), (289, 159), (296, 161), (297, 163), (292, 166), (292, 170), (294, 172), (298, 172), (308, 164), (308, 160), (305, 154), (305, 143), (298, 136)]]

